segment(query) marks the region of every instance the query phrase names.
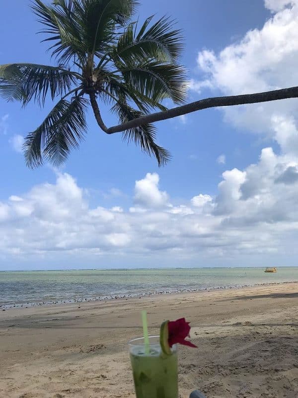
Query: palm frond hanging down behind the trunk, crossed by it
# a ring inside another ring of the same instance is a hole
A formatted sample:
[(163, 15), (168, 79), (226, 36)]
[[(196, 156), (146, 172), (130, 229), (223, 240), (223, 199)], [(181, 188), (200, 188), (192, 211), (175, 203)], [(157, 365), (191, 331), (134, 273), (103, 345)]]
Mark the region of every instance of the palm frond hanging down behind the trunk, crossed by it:
[[(136, 117), (142, 116), (139, 110), (133, 109), (125, 101), (118, 101), (112, 107), (112, 111), (117, 113), (121, 123), (135, 119)], [(149, 156), (154, 155), (158, 166), (164, 166), (171, 159), (170, 153), (157, 145), (154, 142), (156, 135), (156, 129), (153, 124), (145, 124), (142, 126), (134, 127), (123, 132), (123, 139), (131, 142), (133, 141), (136, 145), (139, 145), (143, 152), (149, 154)]]

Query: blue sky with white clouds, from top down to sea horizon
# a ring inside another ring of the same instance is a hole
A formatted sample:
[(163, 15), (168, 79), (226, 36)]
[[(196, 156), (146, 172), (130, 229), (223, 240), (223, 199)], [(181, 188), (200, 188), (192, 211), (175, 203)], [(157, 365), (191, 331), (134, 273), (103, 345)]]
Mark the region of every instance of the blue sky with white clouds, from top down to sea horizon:
[[(0, 64), (54, 62), (29, 4), (1, 6)], [(298, 0), (141, 1), (152, 14), (183, 29), (189, 101), (297, 85)], [(89, 112), (60, 169), (30, 170), (23, 139), (51, 105), (0, 99), (0, 270), (298, 265), (298, 100), (158, 122), (162, 168)]]

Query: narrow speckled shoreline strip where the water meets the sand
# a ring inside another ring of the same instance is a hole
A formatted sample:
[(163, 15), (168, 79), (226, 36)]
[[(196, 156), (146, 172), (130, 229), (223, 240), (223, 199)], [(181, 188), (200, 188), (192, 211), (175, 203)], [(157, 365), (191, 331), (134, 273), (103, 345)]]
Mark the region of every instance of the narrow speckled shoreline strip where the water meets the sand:
[(20, 302), (14, 304), (0, 304), (0, 311), (6, 311), (9, 309), (20, 309), (20, 308), (31, 308), (31, 307), (47, 307), (52, 305), (64, 305), (73, 303), (86, 303), (86, 302), (104, 302), (112, 301), (117, 299), (129, 299), (129, 298), (146, 298), (155, 296), (165, 296), (165, 295), (176, 295), (183, 293), (200, 293), (200, 292), (211, 292), (211, 291), (223, 291), (223, 290), (239, 290), (245, 288), (253, 288), (258, 286), (278, 286), (287, 284), (296, 284), (298, 281), (287, 281), (287, 282), (268, 282), (268, 283), (257, 283), (251, 285), (225, 285), (219, 287), (210, 287), (203, 289), (176, 289), (176, 290), (164, 290), (164, 291), (149, 291), (145, 293), (134, 293), (134, 294), (119, 294), (119, 295), (107, 295), (107, 296), (95, 296), (89, 298), (74, 298), (74, 299), (63, 299), (63, 300), (53, 300), (53, 301), (37, 301), (37, 302)]

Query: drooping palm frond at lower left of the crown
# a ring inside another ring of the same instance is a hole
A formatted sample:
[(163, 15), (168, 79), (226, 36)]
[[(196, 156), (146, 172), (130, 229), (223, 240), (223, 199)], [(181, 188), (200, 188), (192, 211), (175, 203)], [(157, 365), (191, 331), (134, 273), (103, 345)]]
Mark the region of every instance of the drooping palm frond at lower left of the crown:
[(60, 100), (41, 125), (25, 138), (27, 166), (38, 167), (43, 158), (55, 166), (61, 165), (84, 137), (85, 110), (86, 100), (82, 97), (75, 97), (72, 102)]

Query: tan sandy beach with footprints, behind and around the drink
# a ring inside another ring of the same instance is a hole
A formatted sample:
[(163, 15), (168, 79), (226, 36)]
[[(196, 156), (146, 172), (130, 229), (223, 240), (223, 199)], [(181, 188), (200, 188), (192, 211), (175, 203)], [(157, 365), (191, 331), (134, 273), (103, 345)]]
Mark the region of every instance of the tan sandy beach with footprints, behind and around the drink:
[(127, 341), (164, 319), (191, 321), (181, 398), (298, 397), (298, 283), (0, 312), (0, 397), (134, 397)]

